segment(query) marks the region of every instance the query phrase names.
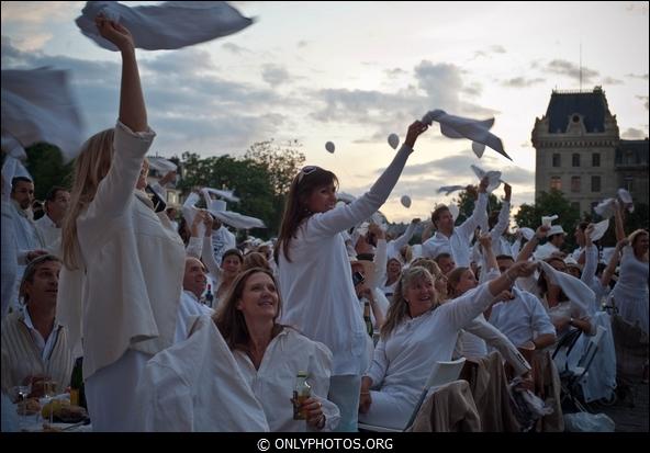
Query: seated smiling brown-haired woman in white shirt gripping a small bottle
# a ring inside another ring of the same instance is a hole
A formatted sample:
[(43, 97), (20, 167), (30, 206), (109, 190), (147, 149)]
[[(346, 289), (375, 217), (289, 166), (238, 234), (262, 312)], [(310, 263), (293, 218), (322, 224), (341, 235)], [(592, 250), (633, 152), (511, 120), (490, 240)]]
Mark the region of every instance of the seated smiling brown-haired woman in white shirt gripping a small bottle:
[[(247, 269), (233, 282), (215, 324), (239, 370), (260, 401), (271, 431), (333, 430), (339, 420), (327, 400), (332, 353), (323, 343), (277, 322), (281, 309), (276, 280), (265, 269)], [(312, 396), (301, 406), (304, 420), (293, 419), (293, 387), (307, 372)]]

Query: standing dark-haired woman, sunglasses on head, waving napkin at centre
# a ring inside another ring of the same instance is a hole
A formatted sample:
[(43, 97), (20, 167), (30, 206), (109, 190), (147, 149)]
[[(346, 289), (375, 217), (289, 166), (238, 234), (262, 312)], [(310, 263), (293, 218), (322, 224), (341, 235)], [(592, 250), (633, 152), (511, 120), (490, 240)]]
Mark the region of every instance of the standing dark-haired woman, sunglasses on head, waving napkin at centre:
[(391, 165), (363, 196), (336, 206), (336, 175), (304, 167), (293, 179), (276, 244), (276, 262), (285, 310), (282, 321), (321, 341), (334, 356), (329, 398), (339, 407), (338, 431), (357, 431), (361, 374), (369, 362), (366, 326), (341, 235), (386, 201), (417, 137), (416, 121)]

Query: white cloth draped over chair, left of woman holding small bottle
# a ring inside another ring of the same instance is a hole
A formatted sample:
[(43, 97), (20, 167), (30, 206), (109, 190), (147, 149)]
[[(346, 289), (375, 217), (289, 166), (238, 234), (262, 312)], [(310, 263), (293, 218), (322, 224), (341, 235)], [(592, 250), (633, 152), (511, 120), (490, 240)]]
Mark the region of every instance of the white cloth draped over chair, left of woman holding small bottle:
[(133, 431), (269, 430), (261, 405), (208, 316), (194, 318), (186, 340), (147, 362), (134, 395), (139, 424)]

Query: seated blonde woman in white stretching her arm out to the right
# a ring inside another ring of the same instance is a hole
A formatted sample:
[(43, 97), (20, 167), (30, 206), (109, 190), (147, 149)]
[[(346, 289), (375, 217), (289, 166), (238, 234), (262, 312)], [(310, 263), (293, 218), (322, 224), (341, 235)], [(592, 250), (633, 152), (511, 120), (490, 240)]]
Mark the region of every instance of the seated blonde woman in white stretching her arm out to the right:
[(432, 274), (410, 268), (397, 284), (372, 365), (361, 382), (359, 421), (402, 429), (437, 361), (451, 360), (458, 331), (535, 264), (517, 263), (496, 279), (439, 304)]

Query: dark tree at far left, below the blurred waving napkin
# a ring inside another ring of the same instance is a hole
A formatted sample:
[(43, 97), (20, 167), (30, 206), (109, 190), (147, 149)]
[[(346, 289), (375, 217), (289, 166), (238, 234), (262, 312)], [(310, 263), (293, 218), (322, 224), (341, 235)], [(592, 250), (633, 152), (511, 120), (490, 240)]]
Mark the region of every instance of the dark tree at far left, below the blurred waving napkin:
[(34, 178), (36, 200), (44, 200), (54, 185), (67, 189), (71, 186), (75, 161), (64, 165), (58, 147), (47, 143), (38, 143), (30, 146), (25, 151), (27, 152), (25, 168)]

